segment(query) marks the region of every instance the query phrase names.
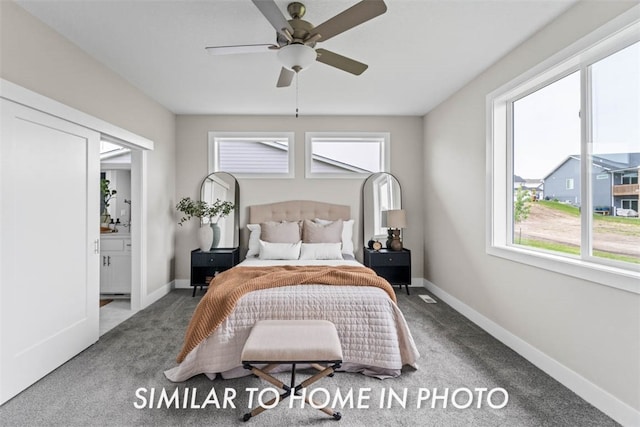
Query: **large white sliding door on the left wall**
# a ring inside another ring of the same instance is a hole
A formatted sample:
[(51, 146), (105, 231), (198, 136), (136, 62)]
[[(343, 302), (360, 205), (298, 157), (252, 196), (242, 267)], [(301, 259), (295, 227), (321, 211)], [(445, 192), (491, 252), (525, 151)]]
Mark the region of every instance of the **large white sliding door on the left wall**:
[(0, 404), (99, 336), (99, 134), (0, 100)]

